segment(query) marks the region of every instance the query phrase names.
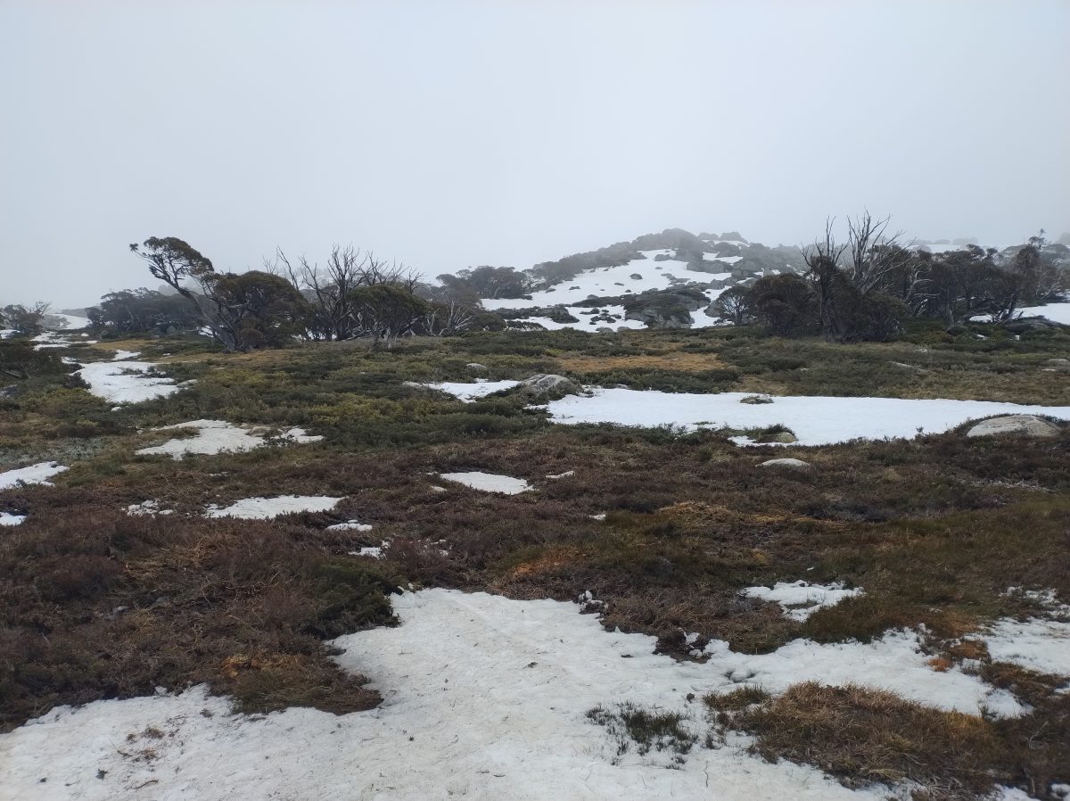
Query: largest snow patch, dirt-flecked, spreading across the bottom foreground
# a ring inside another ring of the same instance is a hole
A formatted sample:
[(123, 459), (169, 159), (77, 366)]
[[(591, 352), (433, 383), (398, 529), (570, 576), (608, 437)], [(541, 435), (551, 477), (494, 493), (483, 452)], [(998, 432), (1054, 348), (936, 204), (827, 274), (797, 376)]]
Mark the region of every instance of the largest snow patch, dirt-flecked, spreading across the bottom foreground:
[[(766, 762), (747, 754), (742, 738), (713, 750), (700, 738), (678, 770), (635, 747), (618, 757), (586, 712), (656, 706), (683, 712), (698, 732), (701, 694), (735, 686), (729, 675), (775, 692), (807, 679), (854, 681), (975, 713), (989, 690), (953, 669), (930, 669), (908, 634), (677, 663), (653, 653), (653, 637), (608, 633), (575, 604), (441, 589), (393, 603), (399, 626), (334, 643), (346, 649), (341, 666), (371, 677), (382, 693), (377, 709), (230, 715), (227, 701), (202, 687), (59, 708), (0, 735), (4, 789), (40, 801), (875, 800), (887, 788), (849, 790), (814, 768)], [(164, 737), (141, 735), (148, 726)], [(148, 747), (155, 758), (140, 757)]]

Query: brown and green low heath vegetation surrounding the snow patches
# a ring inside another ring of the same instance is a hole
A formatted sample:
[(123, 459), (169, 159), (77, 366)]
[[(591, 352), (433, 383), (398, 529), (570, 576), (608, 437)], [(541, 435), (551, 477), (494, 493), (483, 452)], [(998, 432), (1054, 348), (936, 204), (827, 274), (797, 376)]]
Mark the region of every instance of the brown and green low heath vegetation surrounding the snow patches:
[[(978, 338), (975, 333), (987, 338)], [(72, 375), (140, 351), (177, 394), (112, 406)], [(744, 729), (756, 753), (816, 765), (849, 784), (910, 780), (959, 799), (994, 782), (1043, 797), (1065, 779), (1067, 696), (1056, 679), (993, 662), (969, 635), (1038, 614), (1010, 586), (1070, 596), (1070, 430), (1043, 441), (967, 438), (800, 449), (739, 448), (727, 432), (551, 425), (514, 394), (462, 403), (413, 386), (562, 375), (662, 391), (972, 397), (1070, 403), (1046, 369), (1070, 351), (1052, 329), (1014, 338), (919, 323), (850, 348), (751, 328), (470, 333), (401, 339), (391, 352), (325, 342), (221, 353), (204, 337), (125, 338), (45, 351), (0, 399), (0, 470), (62, 459), (55, 486), (16, 486), (0, 512), (0, 725), (60, 704), (208, 683), (238, 708), (366, 709), (378, 696), (340, 670), (325, 639), (389, 623), (398, 587), (489, 590), (517, 599), (584, 595), (603, 624), (702, 660), (722, 639), (771, 651), (791, 639), (868, 640), (924, 624), (934, 669), (969, 669), (1033, 707), (988, 721), (855, 687), (800, 685), (778, 698), (745, 687), (707, 699), (714, 725)], [(905, 366), (904, 366), (905, 365)], [(184, 383), (192, 381), (192, 383)], [(775, 408), (775, 407), (769, 407)], [(324, 439), (238, 453), (137, 455), (196, 420), (305, 428)], [(773, 427), (765, 434), (782, 433)], [(172, 433), (166, 434), (166, 437)], [(773, 457), (812, 469), (770, 470)], [(448, 473), (526, 481), (532, 492), (443, 486)], [(551, 478), (552, 477), (552, 478)], [(286, 495), (338, 497), (328, 512), (210, 519), (210, 504)], [(152, 503), (167, 515), (131, 515)], [(370, 526), (331, 529), (347, 520)], [(387, 547), (376, 556), (362, 549)], [(376, 558), (379, 557), (379, 558)], [(805, 578), (865, 594), (805, 621), (747, 598)], [(590, 594), (585, 594), (590, 593)], [(636, 754), (670, 761), (700, 747), (702, 721), (601, 707), (591, 720)]]

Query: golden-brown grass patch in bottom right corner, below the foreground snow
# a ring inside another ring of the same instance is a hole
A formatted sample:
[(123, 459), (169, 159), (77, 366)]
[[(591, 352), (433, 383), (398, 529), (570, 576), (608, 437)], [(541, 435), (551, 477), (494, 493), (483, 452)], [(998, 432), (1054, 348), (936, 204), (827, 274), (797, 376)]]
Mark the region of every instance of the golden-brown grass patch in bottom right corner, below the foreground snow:
[[(756, 736), (753, 750), (770, 760), (809, 762), (852, 787), (912, 783), (915, 798), (977, 799), (996, 784), (1046, 798), (1070, 765), (1067, 712), (1056, 701), (1044, 714), (1013, 722), (947, 712), (880, 690), (796, 684), (781, 696), (706, 699), (721, 727)], [(1028, 739), (1022, 737), (1033, 730)]]

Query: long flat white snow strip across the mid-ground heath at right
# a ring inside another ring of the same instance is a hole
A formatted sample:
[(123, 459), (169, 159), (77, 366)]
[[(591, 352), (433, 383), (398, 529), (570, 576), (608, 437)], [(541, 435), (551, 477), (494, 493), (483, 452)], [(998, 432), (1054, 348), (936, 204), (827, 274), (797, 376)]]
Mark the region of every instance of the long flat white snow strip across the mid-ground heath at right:
[(547, 408), (556, 423), (617, 423), (760, 428), (782, 424), (800, 445), (851, 439), (914, 437), (945, 432), (967, 420), (992, 414), (1048, 414), (1070, 420), (1070, 406), (1022, 406), (989, 400), (902, 399), (891, 397), (773, 396), (771, 404), (742, 404), (746, 392), (710, 395), (653, 390), (594, 389), (568, 395)]

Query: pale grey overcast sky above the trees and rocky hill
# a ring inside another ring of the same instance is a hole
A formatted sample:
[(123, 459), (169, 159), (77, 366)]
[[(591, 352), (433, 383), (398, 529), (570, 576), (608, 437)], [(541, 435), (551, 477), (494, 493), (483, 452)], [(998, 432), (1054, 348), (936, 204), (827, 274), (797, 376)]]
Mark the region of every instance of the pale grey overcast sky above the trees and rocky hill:
[(1070, 229), (1070, 2), (0, 0), (0, 304), (333, 242), (433, 276), (667, 227)]

